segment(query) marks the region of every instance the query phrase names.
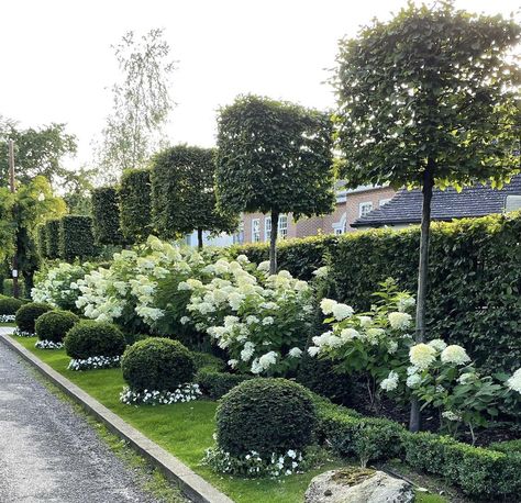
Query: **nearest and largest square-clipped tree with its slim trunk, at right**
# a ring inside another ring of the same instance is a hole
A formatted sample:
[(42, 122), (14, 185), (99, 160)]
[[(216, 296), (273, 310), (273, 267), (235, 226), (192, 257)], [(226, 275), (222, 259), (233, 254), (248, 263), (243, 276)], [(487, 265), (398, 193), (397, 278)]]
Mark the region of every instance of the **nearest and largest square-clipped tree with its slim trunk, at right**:
[[(340, 44), (334, 87), (337, 146), (350, 187), (391, 183), (423, 192), (417, 340), (425, 338), (433, 187), (490, 180), (519, 169), (520, 26), (441, 2), (412, 3)], [(511, 53), (511, 54), (509, 54)], [(418, 406), (410, 428), (420, 428)]]

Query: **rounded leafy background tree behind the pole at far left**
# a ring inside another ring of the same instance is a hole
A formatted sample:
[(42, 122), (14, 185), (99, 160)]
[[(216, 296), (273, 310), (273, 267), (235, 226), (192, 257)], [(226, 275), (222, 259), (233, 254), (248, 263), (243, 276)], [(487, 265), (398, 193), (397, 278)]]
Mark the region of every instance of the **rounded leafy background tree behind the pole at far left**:
[(0, 186), (9, 180), (7, 142), (14, 141), (16, 180), (29, 183), (37, 176), (46, 177), (55, 188), (74, 171), (63, 166), (67, 156), (76, 154), (76, 136), (65, 131), (65, 124), (49, 124), (41, 128), (20, 128), (16, 123), (0, 116)]

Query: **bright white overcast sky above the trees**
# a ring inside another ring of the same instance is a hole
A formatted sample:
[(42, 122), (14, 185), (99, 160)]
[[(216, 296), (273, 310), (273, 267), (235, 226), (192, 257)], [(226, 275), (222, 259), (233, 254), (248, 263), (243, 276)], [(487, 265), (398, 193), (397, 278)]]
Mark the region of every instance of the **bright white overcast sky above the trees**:
[[(118, 75), (111, 44), (123, 33), (165, 29), (178, 69), (171, 143), (211, 146), (215, 111), (254, 92), (304, 105), (334, 103), (322, 83), (336, 44), (406, 0), (0, 0), (0, 114), (23, 126), (64, 122), (78, 137), (76, 164), (110, 112)], [(509, 14), (520, 0), (456, 0)]]

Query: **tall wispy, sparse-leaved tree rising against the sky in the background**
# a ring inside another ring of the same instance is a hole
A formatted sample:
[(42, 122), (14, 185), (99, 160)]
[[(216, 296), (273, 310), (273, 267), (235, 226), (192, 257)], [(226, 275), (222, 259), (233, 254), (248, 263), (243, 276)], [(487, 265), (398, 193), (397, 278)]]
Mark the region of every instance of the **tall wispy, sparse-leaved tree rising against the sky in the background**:
[(122, 80), (112, 87), (112, 113), (98, 147), (104, 182), (115, 181), (123, 169), (144, 166), (173, 108), (168, 89), (174, 63), (163, 30), (140, 40), (128, 32), (113, 49)]

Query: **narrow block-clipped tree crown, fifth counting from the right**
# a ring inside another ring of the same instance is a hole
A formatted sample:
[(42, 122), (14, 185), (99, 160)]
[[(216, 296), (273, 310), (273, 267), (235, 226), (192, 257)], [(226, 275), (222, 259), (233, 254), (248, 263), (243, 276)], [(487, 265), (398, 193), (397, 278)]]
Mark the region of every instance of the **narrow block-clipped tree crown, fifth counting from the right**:
[(100, 187), (91, 191), (92, 234), (98, 245), (120, 245), (120, 206), (118, 191), (113, 187)]

